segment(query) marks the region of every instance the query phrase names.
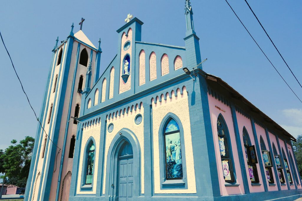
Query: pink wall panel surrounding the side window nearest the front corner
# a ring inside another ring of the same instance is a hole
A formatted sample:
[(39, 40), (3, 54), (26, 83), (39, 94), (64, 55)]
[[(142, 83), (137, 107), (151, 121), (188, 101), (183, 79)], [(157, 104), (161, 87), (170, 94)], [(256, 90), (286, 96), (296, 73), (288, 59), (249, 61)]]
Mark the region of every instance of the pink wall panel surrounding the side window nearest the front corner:
[[(214, 139), (214, 149), (215, 149), (215, 155), (217, 161), (220, 194), (222, 196), (244, 194), (245, 192), (243, 187), (243, 180), (241, 177), (241, 168), (239, 164), (239, 157), (237, 152), (235, 132), (233, 127), (233, 119), (232, 119), (230, 107), (226, 106), (225, 104), (221, 103), (220, 101), (218, 101), (217, 99), (215, 99), (210, 95), (208, 95), (208, 100), (209, 100), (210, 117), (211, 117), (212, 132), (213, 132), (213, 139)], [(218, 110), (215, 106), (218, 106), (223, 110), (226, 110), (226, 112)], [(232, 145), (233, 158), (234, 158), (233, 168), (236, 170), (237, 183), (240, 184), (238, 187), (226, 187), (225, 186), (226, 182), (223, 179), (223, 172), (222, 172), (221, 158), (220, 158), (219, 144), (218, 144), (218, 135), (217, 135), (217, 118), (220, 113), (222, 114), (224, 120), (226, 121), (226, 125), (230, 133), (230, 144)]]

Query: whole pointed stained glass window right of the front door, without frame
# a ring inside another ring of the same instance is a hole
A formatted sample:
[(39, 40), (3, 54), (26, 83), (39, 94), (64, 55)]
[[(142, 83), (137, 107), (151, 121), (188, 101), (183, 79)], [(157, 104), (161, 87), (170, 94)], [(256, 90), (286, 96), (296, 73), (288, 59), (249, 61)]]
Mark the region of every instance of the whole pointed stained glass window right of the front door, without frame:
[(182, 179), (182, 148), (178, 123), (171, 119), (165, 128), (166, 179)]

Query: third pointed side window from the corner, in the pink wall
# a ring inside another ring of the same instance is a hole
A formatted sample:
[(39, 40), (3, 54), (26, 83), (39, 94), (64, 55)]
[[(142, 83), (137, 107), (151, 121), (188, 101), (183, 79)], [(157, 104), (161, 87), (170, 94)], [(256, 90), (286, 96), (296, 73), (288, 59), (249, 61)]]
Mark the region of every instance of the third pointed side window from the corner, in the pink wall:
[[(273, 144), (274, 147), (274, 144)], [(268, 183), (274, 183), (274, 175), (272, 171), (271, 152), (266, 149), (262, 136), (260, 136), (260, 148), (265, 167), (265, 175)], [(273, 149), (274, 150), (274, 149)], [(273, 151), (274, 152), (274, 151)]]

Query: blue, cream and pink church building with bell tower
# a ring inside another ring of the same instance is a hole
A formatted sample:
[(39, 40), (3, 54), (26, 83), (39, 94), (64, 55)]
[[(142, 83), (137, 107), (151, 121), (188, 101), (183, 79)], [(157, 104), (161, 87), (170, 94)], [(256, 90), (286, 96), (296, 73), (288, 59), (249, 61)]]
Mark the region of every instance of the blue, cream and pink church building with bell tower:
[(107, 66), (85, 19), (56, 40), (24, 200), (301, 196), (296, 139), (203, 71), (190, 0), (184, 14), (184, 47), (141, 41), (128, 14)]

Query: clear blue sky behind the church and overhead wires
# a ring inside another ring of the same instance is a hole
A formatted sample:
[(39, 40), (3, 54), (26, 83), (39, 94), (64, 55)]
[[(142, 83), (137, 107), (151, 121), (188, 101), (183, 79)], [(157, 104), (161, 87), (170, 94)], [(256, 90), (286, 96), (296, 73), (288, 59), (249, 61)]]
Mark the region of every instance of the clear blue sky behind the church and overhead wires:
[[(302, 2), (249, 1), (272, 40), (302, 82)], [(117, 51), (116, 30), (128, 13), (144, 22), (142, 41), (184, 46), (185, 0), (133, 1), (1, 1), (0, 30), (24, 88), (37, 113), (56, 37), (64, 40), (74, 22), (98, 45), (101, 37), (101, 71)], [(302, 98), (302, 89), (275, 51), (243, 0), (230, 4), (278, 70)], [(204, 71), (217, 75), (256, 107), (286, 128), (302, 134), (302, 104), (251, 40), (223, 0), (191, 0), (195, 31), (200, 38), (201, 57), (208, 58)], [(0, 149), (12, 139), (35, 136), (37, 120), (31, 111), (10, 60), (0, 44), (2, 93), (0, 98)]]

